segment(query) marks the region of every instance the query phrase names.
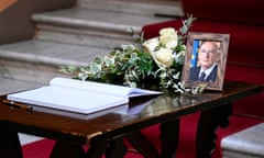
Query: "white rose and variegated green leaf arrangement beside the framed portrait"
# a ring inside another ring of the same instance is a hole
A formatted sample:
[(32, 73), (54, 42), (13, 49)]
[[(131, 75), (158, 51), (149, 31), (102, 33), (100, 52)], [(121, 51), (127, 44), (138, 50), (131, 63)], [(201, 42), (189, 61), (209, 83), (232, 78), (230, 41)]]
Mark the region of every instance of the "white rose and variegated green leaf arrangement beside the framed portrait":
[[(186, 52), (186, 37), (194, 16), (183, 21), (179, 31), (165, 27), (160, 36), (143, 40), (140, 45), (122, 45), (85, 67), (66, 66), (61, 70), (76, 74), (77, 79), (186, 92), (180, 82)], [(147, 84), (147, 86), (146, 86)]]

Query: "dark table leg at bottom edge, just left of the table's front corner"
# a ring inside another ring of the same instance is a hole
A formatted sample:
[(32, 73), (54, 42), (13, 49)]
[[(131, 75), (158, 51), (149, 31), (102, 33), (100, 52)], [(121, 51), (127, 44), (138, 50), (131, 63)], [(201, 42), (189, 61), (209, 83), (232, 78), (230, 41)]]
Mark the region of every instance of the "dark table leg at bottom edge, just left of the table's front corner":
[(57, 140), (53, 147), (51, 158), (84, 158), (85, 150), (80, 145)]

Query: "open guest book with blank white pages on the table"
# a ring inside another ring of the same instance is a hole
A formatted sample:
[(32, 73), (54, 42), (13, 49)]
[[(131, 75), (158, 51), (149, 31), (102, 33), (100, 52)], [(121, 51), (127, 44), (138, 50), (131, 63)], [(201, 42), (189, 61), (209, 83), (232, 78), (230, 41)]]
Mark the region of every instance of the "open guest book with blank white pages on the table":
[(8, 94), (12, 102), (31, 105), (33, 111), (50, 112), (82, 119), (90, 114), (120, 110), (128, 105), (129, 98), (161, 94), (158, 91), (122, 86), (54, 78), (48, 86)]

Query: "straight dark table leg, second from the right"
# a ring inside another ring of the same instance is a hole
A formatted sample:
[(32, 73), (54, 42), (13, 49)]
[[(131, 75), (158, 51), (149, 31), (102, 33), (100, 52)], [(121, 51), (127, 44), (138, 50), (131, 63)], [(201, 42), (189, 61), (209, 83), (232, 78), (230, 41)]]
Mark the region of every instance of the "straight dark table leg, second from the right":
[(179, 137), (179, 120), (162, 123), (160, 129), (162, 142), (161, 158), (175, 157)]

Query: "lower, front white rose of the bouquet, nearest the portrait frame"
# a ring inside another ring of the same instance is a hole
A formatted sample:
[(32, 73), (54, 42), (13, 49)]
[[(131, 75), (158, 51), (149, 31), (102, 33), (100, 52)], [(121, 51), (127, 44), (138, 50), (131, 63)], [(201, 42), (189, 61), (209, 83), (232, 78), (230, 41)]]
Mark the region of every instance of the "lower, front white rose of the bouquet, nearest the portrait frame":
[(158, 65), (158, 67), (168, 68), (173, 65), (174, 61), (173, 50), (162, 47), (158, 50), (154, 52), (153, 58)]

